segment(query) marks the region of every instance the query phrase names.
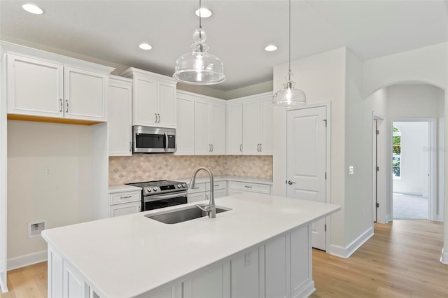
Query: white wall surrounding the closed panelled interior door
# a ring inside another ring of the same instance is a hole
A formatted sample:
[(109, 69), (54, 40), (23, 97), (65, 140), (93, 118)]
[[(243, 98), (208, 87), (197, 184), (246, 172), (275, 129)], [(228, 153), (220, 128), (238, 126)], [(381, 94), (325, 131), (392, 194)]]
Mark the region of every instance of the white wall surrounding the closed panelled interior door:
[[(332, 215), (330, 242), (345, 246), (345, 66), (346, 48), (323, 52), (291, 62), (297, 89), (307, 94), (309, 104), (331, 102), (330, 203), (342, 206)], [(283, 88), (288, 64), (274, 66), (274, 92)], [(273, 192), (286, 196), (286, 111), (274, 108)]]

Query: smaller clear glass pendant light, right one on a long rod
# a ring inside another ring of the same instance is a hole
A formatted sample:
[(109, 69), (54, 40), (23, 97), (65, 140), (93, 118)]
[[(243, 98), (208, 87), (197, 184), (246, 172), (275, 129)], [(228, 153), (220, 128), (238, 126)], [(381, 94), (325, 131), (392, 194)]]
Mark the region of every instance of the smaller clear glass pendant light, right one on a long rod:
[(289, 0), (289, 57), (288, 73), (286, 73), (283, 89), (275, 92), (272, 97), (274, 106), (298, 106), (307, 103), (307, 97), (302, 90), (294, 88), (295, 82), (291, 73), (291, 0)]

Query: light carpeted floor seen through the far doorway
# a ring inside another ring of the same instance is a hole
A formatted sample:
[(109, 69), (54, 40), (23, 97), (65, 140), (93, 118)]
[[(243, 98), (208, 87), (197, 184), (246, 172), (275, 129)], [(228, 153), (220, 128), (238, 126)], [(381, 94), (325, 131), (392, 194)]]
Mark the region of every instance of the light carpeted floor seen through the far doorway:
[(393, 194), (394, 220), (427, 220), (428, 198), (409, 194)]

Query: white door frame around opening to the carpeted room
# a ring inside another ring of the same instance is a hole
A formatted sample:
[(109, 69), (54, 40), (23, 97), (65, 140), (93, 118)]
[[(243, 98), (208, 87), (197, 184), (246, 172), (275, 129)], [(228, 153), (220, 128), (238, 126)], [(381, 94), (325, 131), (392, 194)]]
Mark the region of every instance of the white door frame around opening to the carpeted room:
[[(391, 118), (388, 129), (388, 171), (390, 173), (389, 183), (391, 184), (389, 192), (389, 207), (391, 214), (389, 219), (393, 220), (393, 176), (392, 176), (392, 146), (393, 146), (393, 122), (428, 122), (428, 219), (431, 221), (437, 220), (437, 202), (440, 198), (437, 197), (437, 118)], [(386, 210), (384, 210), (386, 211)]]

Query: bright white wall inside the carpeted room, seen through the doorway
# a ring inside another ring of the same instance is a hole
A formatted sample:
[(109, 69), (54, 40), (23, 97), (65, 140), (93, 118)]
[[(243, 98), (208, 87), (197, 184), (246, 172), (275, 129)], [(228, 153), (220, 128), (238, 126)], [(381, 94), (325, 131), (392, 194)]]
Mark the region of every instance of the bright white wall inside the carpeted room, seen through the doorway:
[(428, 122), (393, 122), (401, 132), (400, 178), (393, 179), (393, 192), (428, 195)]

